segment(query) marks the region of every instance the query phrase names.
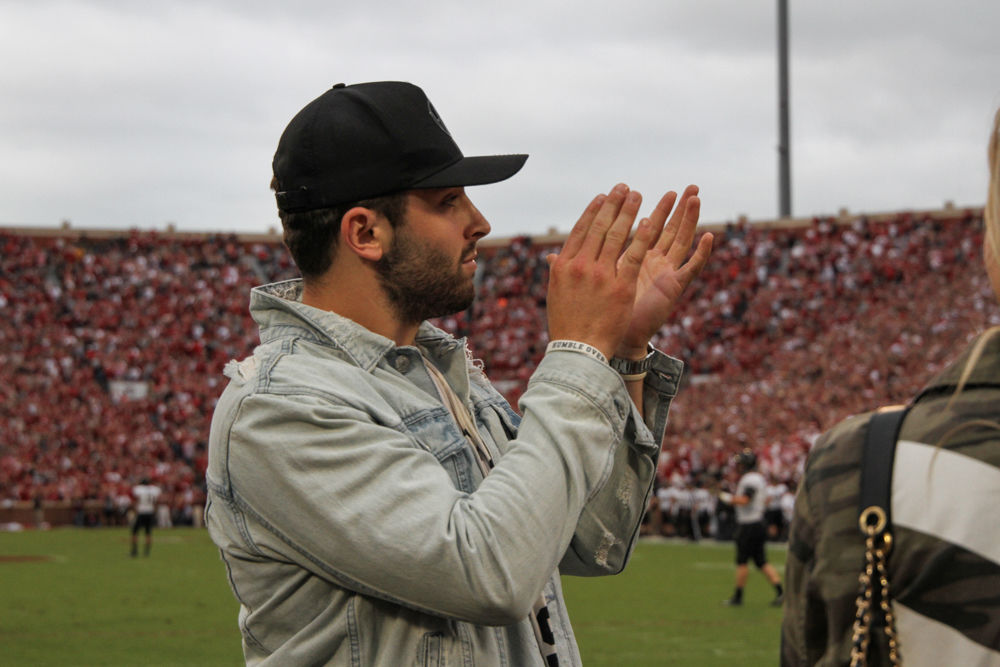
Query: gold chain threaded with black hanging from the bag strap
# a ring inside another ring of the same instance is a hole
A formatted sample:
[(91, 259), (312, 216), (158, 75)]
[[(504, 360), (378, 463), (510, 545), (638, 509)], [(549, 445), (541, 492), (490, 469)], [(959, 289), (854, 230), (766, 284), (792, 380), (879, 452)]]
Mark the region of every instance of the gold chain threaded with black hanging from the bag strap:
[(889, 593), (889, 572), (886, 557), (892, 549), (892, 535), (882, 532), (885, 528), (885, 512), (879, 507), (869, 507), (858, 520), (865, 539), (865, 568), (858, 576), (857, 614), (854, 617), (854, 636), (851, 645), (851, 667), (865, 667), (868, 664), (868, 644), (871, 638), (873, 577), (878, 577), (880, 601), (879, 609), (885, 617), (885, 635), (889, 640), (889, 660), (894, 667), (902, 667), (899, 655), (899, 638), (896, 635), (896, 617), (892, 613), (892, 598)]

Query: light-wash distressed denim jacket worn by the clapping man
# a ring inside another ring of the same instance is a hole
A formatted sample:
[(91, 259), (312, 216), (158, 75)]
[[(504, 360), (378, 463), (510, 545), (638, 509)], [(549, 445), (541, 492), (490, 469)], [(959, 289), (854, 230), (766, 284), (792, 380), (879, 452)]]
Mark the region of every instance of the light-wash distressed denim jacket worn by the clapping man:
[[(620, 572), (638, 534), (682, 365), (657, 353), (645, 422), (620, 376), (545, 355), (522, 417), (464, 341), (415, 346), (256, 288), (261, 345), (226, 369), (206, 520), (252, 665), (540, 665), (544, 594), (560, 665), (578, 665), (559, 575)], [(496, 467), (483, 477), (435, 393), (433, 363)]]

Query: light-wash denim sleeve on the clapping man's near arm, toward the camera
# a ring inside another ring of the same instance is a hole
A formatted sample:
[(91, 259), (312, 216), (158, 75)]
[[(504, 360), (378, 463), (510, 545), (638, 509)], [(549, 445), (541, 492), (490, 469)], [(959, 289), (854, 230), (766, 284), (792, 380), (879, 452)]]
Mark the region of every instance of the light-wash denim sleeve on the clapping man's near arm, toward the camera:
[[(465, 493), (402, 423), (306, 390), (248, 392), (213, 425), (225, 461), (213, 483), (246, 518), (244, 558), (439, 616), (517, 622), (613, 477), (631, 406), (617, 373), (572, 352), (546, 355), (524, 404), (517, 438)], [(642, 456), (645, 480), (655, 458)]]

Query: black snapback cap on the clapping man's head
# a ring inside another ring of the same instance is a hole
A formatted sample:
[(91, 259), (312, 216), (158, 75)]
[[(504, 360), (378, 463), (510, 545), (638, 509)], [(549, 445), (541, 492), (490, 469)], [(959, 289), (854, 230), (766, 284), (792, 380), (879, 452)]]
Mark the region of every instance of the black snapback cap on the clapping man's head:
[(288, 213), (419, 188), (496, 183), (527, 155), (465, 157), (411, 83), (338, 83), (288, 124), (272, 168)]

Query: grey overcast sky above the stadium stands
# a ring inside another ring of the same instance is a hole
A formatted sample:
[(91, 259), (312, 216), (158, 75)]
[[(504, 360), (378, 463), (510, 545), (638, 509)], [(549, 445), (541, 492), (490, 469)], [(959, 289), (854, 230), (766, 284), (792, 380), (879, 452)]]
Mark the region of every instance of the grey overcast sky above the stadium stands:
[[(796, 216), (982, 205), (1000, 2), (789, 3)], [(0, 0), (0, 226), (265, 232), (278, 137), (337, 82), (427, 92), (494, 236), (618, 181), (778, 212), (775, 0)]]

